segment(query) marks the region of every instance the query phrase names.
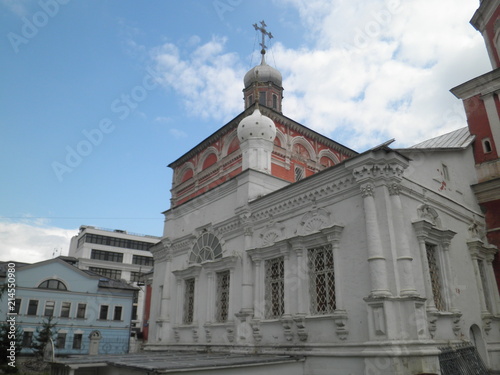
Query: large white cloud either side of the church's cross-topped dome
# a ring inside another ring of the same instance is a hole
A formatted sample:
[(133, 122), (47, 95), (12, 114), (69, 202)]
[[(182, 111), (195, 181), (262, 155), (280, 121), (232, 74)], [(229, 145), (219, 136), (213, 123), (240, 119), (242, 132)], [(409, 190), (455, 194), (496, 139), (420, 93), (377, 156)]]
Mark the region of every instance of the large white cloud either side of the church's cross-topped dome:
[[(449, 89), (490, 68), (468, 22), (474, 2), (275, 1), (295, 7), (308, 33), (308, 47), (273, 47), (288, 117), (358, 150), (390, 138), (411, 145), (466, 125)], [(190, 114), (230, 119), (242, 109), (246, 69), (224, 51), (225, 39), (199, 43), (191, 39), (188, 55), (174, 44), (154, 51), (163, 83)]]

